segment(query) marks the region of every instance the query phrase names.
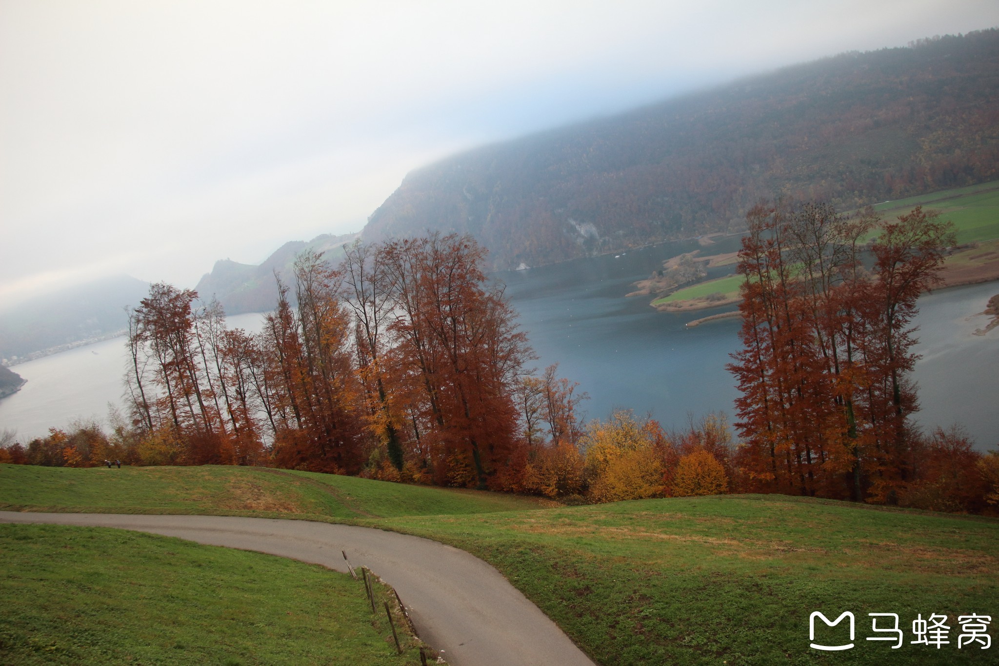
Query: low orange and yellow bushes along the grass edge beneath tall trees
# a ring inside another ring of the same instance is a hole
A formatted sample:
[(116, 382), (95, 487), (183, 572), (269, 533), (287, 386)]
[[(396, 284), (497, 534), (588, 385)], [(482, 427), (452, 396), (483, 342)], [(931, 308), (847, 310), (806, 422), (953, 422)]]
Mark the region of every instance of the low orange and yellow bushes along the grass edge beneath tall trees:
[[(53, 429), (49, 436), (27, 446), (10, 445), (0, 436), (0, 462), (93, 466), (119, 459), (125, 464), (155, 463), (151, 462), (156, 459), (155, 439), (142, 436), (121, 418), (111, 420), (109, 433), (95, 423), (81, 422), (68, 431)], [(576, 444), (564, 437), (545, 441), (551, 436), (546, 431), (544, 439), (518, 448), (525, 455), (519, 459), (517, 473), (507, 477), (513, 483), (505, 489), (563, 503), (584, 503), (758, 488), (758, 479), (741, 466), (748, 450), (733, 442), (723, 416), (708, 414), (698, 421), (690, 419), (681, 430), (666, 431), (653, 419), (638, 419), (630, 411), (618, 410), (605, 421), (594, 419), (585, 427), (575, 427)], [(914, 433), (913, 447), (921, 463), (901, 503), (938, 511), (996, 512), (999, 452), (982, 455), (967, 437), (953, 430), (937, 430), (930, 436)], [(405, 478), (385, 459), (379, 462), (373, 456), (361, 473), (385, 480)]]

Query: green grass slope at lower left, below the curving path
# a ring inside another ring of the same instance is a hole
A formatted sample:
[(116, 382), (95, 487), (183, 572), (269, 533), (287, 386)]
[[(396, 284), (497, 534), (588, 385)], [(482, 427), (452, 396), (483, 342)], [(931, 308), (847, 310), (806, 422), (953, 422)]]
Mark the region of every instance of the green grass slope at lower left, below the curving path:
[(0, 561), (4, 664), (420, 663), (412, 637), (396, 654), (360, 583), (318, 565), (119, 529), (11, 524), (0, 524)]

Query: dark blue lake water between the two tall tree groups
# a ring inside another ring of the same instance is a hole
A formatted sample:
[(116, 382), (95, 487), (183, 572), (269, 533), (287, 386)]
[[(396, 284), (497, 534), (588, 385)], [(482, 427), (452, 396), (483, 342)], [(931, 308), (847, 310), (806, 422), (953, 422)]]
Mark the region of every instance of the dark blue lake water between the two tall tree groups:
[[(731, 252), (737, 243), (726, 239), (700, 250)], [(624, 295), (664, 260), (698, 248), (696, 242), (666, 244), (498, 277), (540, 356), (536, 364), (557, 361), (562, 376), (578, 381), (590, 395), (583, 403), (590, 417), (626, 407), (678, 426), (688, 413), (731, 412), (736, 391), (724, 365), (737, 347), (738, 321), (685, 325), (734, 307), (660, 313), (649, 306), (652, 297)]]

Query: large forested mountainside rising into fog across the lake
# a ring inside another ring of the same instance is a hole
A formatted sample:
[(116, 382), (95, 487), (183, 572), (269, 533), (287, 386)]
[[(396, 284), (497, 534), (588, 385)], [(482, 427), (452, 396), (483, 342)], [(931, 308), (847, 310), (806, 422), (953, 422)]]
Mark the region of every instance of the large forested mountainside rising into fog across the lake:
[(840, 210), (999, 179), (999, 30), (845, 53), (412, 172), (366, 240), (468, 232), (494, 268), (744, 227), (761, 197)]

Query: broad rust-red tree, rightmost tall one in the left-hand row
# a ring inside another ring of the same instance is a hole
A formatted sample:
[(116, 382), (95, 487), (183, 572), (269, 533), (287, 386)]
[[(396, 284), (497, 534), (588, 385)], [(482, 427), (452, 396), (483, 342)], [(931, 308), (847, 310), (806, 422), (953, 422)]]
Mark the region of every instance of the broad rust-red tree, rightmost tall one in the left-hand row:
[(380, 254), (396, 314), (393, 376), (406, 384), (415, 437), (439, 480), (462, 467), (479, 487), (499, 482), (515, 447), (513, 386), (532, 352), (502, 288), (486, 279), (486, 251), (468, 236), (432, 234), (390, 241)]

